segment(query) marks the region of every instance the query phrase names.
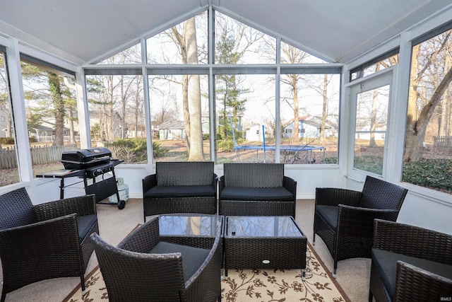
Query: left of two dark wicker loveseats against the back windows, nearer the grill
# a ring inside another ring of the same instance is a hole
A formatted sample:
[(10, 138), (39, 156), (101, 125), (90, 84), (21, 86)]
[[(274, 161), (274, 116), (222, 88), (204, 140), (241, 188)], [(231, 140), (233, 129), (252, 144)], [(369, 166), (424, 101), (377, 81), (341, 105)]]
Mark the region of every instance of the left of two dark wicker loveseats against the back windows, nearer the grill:
[(218, 176), (213, 161), (157, 162), (143, 178), (146, 216), (171, 213), (217, 213)]

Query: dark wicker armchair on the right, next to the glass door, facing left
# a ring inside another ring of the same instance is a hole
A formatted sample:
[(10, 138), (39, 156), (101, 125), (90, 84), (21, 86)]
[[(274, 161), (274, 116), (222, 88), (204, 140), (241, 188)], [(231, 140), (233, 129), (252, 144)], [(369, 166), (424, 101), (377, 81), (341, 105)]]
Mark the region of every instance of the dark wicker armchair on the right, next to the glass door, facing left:
[(333, 277), (338, 261), (371, 257), (374, 219), (396, 221), (408, 190), (367, 176), (362, 192), (316, 188), (314, 239), (319, 235), (333, 257)]

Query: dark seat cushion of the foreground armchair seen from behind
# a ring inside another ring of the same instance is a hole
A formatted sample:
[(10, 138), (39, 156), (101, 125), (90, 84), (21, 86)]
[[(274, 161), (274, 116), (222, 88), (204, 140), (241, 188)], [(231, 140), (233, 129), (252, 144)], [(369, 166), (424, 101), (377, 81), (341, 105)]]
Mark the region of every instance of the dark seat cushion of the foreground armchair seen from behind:
[(188, 281), (191, 276), (203, 265), (209, 255), (210, 250), (204, 248), (194, 248), (188, 245), (179, 245), (160, 241), (150, 250), (150, 254), (167, 254), (170, 252), (180, 252), (182, 255), (182, 267), (184, 269), (184, 281)]

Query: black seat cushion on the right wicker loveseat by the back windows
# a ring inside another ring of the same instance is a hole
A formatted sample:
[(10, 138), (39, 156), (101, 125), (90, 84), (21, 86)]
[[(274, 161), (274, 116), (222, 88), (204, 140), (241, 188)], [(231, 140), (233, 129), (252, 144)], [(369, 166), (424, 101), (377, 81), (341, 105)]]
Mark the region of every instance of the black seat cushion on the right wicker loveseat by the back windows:
[(220, 194), (220, 199), (293, 201), (294, 194), (285, 187), (225, 187)]

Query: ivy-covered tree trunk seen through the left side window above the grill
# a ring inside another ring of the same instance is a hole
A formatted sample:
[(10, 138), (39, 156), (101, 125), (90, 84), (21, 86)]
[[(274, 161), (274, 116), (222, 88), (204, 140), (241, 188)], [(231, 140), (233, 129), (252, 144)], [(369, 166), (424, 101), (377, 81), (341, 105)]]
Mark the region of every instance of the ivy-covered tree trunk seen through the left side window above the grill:
[(55, 139), (52, 146), (64, 145), (64, 115), (66, 108), (64, 108), (64, 99), (61, 96), (61, 87), (59, 83), (59, 76), (53, 72), (48, 72), (49, 90), (52, 95), (52, 103), (55, 110)]

